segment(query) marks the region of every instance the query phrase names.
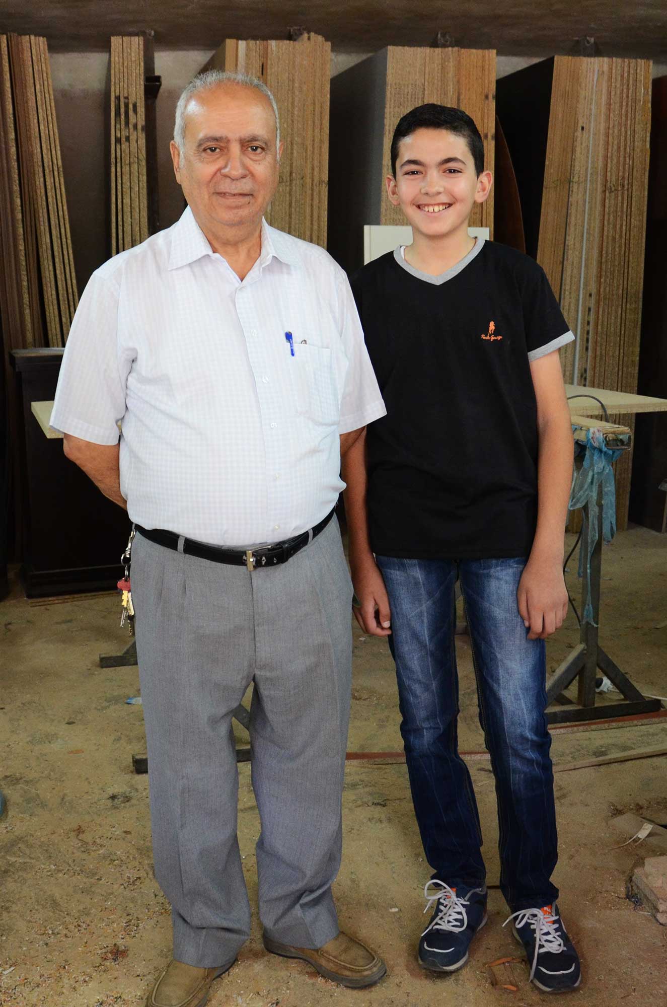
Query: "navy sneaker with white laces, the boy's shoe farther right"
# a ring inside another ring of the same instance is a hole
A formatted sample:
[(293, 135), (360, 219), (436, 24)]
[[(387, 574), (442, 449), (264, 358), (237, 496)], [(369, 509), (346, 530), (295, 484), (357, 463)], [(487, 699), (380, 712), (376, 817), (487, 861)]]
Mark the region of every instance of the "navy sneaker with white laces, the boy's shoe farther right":
[(565, 932), (558, 906), (520, 909), (505, 920), (514, 919), (512, 929), (524, 946), (530, 964), (530, 981), (544, 993), (566, 993), (581, 982), (579, 956)]

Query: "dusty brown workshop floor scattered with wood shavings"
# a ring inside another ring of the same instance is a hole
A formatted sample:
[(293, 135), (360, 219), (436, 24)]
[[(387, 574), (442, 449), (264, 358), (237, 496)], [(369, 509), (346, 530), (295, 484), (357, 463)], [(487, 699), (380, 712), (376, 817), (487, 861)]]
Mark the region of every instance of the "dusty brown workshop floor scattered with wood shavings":
[[(644, 529), (618, 536), (603, 565), (604, 643), (642, 689), (667, 695), (667, 537)], [(573, 574), (569, 583), (578, 598)], [(18, 584), (0, 604), (0, 1003), (111, 1007), (143, 1003), (169, 957), (167, 904), (151, 867), (136, 668), (102, 671), (98, 655), (123, 650), (112, 595), (26, 601)], [(351, 752), (401, 749), (396, 686), (386, 643), (354, 627)], [(573, 616), (548, 645), (550, 669), (577, 641)], [(483, 748), (470, 648), (456, 644), (461, 681), (460, 746)], [(612, 693), (618, 701), (618, 695)], [(666, 704), (667, 705), (667, 704)], [(239, 729), (239, 740), (244, 732)], [(245, 737), (247, 740), (247, 736)], [(556, 767), (628, 749), (667, 747), (667, 719), (605, 730), (554, 732)], [(471, 759), (485, 832), (489, 881), (498, 881), (493, 777)], [(251, 901), (259, 822), (250, 766), (240, 765), (239, 839)], [(626, 899), (633, 866), (649, 855), (618, 846), (610, 818), (636, 811), (667, 822), (667, 759), (647, 758), (556, 775), (560, 906), (581, 955), (578, 1000), (590, 1007), (667, 1002), (667, 927)], [(386, 959), (389, 975), (348, 991), (307, 966), (268, 956), (259, 921), (238, 964), (214, 987), (209, 1007), (464, 1007), (536, 1004), (502, 929), (506, 906), (490, 895), (490, 920), (470, 964), (451, 977), (419, 969), (424, 863), (404, 764), (350, 761), (344, 794), (345, 849), (336, 897), (342, 923)], [(628, 837), (630, 838), (630, 837)]]

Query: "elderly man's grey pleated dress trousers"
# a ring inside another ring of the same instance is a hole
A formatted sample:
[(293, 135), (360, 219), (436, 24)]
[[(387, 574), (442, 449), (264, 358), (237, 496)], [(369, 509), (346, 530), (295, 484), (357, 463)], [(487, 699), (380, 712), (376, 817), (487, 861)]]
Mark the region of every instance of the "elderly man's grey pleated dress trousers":
[(251, 682), (260, 916), (275, 941), (321, 947), (339, 932), (331, 883), (352, 677), (352, 583), (336, 518), (288, 563), (252, 573), (137, 534), (132, 599), (174, 958), (224, 966), (250, 932), (232, 713)]

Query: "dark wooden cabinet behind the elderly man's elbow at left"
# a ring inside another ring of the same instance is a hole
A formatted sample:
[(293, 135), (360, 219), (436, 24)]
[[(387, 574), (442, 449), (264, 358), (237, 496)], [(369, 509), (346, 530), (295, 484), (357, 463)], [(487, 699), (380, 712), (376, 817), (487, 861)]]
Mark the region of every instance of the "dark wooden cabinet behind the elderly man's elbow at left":
[(49, 439), (32, 403), (55, 395), (63, 350), (16, 349), (11, 353), (21, 398), (24, 500), (22, 576), (29, 598), (102, 591), (116, 587), (130, 522)]

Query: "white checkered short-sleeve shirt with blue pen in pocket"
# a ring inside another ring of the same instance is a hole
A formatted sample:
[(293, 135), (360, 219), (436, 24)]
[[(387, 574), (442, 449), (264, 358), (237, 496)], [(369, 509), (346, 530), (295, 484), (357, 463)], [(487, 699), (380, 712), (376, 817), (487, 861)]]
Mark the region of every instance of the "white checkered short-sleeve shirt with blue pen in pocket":
[(115, 444), (121, 421), (132, 521), (249, 547), (320, 521), (344, 488), (339, 434), (385, 412), (326, 252), (263, 223), (241, 281), (187, 208), (91, 277), (51, 426)]

